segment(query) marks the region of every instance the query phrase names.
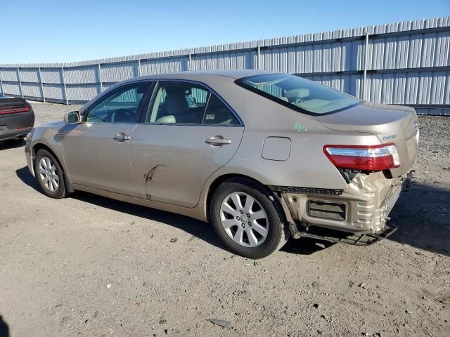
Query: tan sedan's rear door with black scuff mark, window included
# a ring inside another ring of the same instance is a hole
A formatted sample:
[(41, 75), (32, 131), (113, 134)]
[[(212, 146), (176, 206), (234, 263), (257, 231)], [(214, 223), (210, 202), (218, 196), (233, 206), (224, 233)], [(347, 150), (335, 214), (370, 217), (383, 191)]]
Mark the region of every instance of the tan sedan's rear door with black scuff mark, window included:
[(194, 207), (205, 181), (238, 150), (243, 124), (200, 84), (159, 81), (133, 138), (141, 197)]

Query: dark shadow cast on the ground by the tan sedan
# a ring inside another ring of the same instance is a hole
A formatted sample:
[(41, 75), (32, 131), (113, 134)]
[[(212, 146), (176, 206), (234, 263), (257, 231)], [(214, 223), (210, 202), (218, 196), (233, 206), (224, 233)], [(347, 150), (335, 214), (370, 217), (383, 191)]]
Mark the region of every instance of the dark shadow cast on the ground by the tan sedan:
[[(23, 183), (42, 193), (27, 166), (18, 169), (15, 173)], [(212, 226), (202, 221), (86, 192), (76, 192), (71, 197), (106, 209), (166, 223), (214, 246), (226, 249), (217, 238)], [(415, 183), (409, 190), (401, 193), (390, 217), (389, 224), (398, 226), (399, 229), (388, 239), (401, 244), (416, 246), (420, 249), (450, 255), (450, 189)], [(281, 251), (311, 255), (332, 245), (330, 242), (316, 239), (290, 239)]]

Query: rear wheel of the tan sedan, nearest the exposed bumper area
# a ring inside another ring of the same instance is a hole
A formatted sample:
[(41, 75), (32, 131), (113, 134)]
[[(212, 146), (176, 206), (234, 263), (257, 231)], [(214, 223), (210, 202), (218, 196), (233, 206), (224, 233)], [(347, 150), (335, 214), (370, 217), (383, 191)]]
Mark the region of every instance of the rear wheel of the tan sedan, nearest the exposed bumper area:
[[(214, 191), (210, 215), (225, 246), (246, 258), (264, 258), (285, 244), (284, 214), (271, 192), (245, 178), (226, 180)], [(251, 204), (251, 205), (250, 205)]]

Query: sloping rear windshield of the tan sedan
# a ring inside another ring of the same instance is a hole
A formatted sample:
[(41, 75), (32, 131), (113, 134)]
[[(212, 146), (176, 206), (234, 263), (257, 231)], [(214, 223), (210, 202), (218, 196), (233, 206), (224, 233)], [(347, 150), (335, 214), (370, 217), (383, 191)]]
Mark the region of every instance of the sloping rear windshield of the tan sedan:
[(331, 114), (361, 104), (353, 96), (291, 74), (243, 77), (236, 84), (306, 114)]

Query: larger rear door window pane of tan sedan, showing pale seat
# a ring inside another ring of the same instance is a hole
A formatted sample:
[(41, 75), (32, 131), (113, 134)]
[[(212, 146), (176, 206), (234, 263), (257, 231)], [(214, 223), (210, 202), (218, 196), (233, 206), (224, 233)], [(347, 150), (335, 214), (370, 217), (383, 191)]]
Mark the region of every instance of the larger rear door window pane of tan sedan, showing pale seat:
[(200, 124), (209, 95), (195, 84), (160, 82), (146, 123)]

